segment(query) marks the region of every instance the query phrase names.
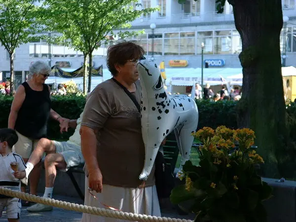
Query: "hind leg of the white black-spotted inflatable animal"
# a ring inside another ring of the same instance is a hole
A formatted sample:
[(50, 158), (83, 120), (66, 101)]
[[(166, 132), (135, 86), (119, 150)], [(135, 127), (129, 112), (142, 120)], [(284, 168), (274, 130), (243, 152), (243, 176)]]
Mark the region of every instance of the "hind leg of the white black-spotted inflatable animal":
[(192, 126), (182, 125), (174, 129), (176, 139), (177, 139), (177, 144), (182, 156), (179, 172), (182, 171), (182, 166), (185, 164), (185, 162), (189, 160), (192, 143), (194, 141), (194, 137), (191, 136), (191, 133), (192, 131), (195, 131), (195, 128), (196, 127), (194, 125)]

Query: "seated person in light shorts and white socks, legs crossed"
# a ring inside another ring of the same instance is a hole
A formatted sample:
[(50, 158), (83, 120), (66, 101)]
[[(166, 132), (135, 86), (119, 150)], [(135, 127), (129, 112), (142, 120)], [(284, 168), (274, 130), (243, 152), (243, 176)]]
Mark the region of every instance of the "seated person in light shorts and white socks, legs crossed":
[[(65, 127), (66, 131), (68, 131), (68, 127), (75, 128), (74, 134), (67, 142), (52, 141), (46, 138), (40, 139), (37, 147), (32, 152), (26, 164), (26, 178), (21, 181), (27, 185), (30, 172), (34, 166), (40, 162), (44, 152), (47, 154), (44, 160), (45, 192), (43, 197), (52, 197), (53, 184), (57, 174), (56, 167), (59, 170), (67, 171), (70, 167), (84, 163), (83, 155), (81, 153), (81, 140), (79, 134), (82, 113), (78, 119), (65, 120), (62, 124), (60, 124), (61, 129)], [(52, 206), (39, 203), (27, 208), (27, 211), (29, 212), (51, 210)]]

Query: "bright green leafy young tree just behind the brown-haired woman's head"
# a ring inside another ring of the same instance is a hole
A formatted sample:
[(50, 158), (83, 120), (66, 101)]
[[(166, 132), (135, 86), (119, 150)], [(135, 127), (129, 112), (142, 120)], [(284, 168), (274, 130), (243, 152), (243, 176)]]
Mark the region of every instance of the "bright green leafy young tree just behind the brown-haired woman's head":
[[(48, 31), (58, 32), (61, 36), (53, 35), (54, 43), (62, 44), (89, 56), (100, 47), (108, 36), (114, 36), (114, 29), (130, 28), (129, 22), (142, 14), (151, 13), (157, 8), (135, 10), (137, 0), (45, 0), (42, 19)], [(119, 32), (119, 37), (138, 35), (140, 32)], [(50, 40), (48, 37), (45, 37)], [(89, 76), (91, 69), (89, 69)], [(84, 79), (87, 74), (84, 74)], [(90, 91), (91, 78), (89, 78)], [(85, 92), (84, 92), (85, 93)]]

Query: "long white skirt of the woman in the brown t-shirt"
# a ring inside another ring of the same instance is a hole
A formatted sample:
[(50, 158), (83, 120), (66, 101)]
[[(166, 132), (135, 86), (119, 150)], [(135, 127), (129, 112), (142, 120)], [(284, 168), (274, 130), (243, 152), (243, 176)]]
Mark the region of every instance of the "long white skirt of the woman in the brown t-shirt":
[[(92, 193), (98, 199), (94, 198), (91, 194), (89, 194), (88, 177), (85, 177), (84, 205), (109, 209), (101, 204), (103, 203), (107, 206), (113, 207), (123, 212), (161, 217), (155, 185), (148, 186), (142, 189), (103, 185), (102, 193), (97, 193), (95, 191), (92, 191)], [(128, 222), (128, 221), (83, 213), (82, 222)]]

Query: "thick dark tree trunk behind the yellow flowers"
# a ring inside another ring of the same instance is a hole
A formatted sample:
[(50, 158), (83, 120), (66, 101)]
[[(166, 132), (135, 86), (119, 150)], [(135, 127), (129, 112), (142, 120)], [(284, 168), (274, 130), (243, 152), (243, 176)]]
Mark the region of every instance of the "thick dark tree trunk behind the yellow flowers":
[(281, 0), (229, 0), (242, 39), (242, 99), (238, 127), (255, 131), (264, 176), (283, 176), (288, 129), (281, 73)]

